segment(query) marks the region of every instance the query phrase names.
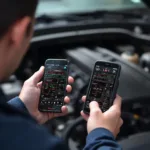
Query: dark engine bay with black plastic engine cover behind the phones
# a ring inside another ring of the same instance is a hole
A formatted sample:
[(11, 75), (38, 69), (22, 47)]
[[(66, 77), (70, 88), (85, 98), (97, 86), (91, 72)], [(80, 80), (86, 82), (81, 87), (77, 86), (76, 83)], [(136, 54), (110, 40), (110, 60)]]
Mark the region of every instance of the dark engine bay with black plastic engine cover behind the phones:
[[(17, 96), (23, 82), (29, 78), (48, 58), (65, 58), (70, 61), (69, 75), (74, 77), (67, 116), (46, 123), (54, 135), (62, 137), (71, 150), (80, 150), (85, 145), (86, 122), (80, 117), (83, 108), (81, 97), (86, 94), (95, 61), (110, 61), (121, 65), (122, 72), (118, 94), (123, 98), (122, 118), (124, 125), (118, 141), (137, 133), (150, 131), (150, 53), (149, 47), (135, 44), (126, 36), (93, 37), (88, 40), (55, 41), (33, 39), (31, 47), (20, 68), (1, 88), (7, 99)], [(13, 90), (12, 90), (13, 89)]]

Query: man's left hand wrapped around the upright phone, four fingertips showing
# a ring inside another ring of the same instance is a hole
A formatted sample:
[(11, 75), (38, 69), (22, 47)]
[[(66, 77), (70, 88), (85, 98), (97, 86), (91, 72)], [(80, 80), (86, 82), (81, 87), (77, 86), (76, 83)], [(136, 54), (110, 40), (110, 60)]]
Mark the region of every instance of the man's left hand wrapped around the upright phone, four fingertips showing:
[[(39, 98), (41, 94), (41, 86), (42, 82), (39, 83), (41, 78), (44, 75), (44, 67), (41, 67), (39, 71), (34, 73), (28, 80), (24, 82), (23, 88), (19, 95), (21, 101), (25, 104), (26, 108), (28, 109), (30, 115), (35, 118), (38, 123), (44, 124), (46, 121), (59, 116), (64, 116), (67, 114), (68, 110), (66, 106), (62, 107), (62, 113), (43, 113), (38, 110)], [(68, 83), (72, 84), (74, 79), (72, 77), (68, 78)], [(72, 87), (67, 85), (66, 90), (68, 93), (72, 91)], [(70, 102), (69, 97), (65, 97), (65, 103)]]

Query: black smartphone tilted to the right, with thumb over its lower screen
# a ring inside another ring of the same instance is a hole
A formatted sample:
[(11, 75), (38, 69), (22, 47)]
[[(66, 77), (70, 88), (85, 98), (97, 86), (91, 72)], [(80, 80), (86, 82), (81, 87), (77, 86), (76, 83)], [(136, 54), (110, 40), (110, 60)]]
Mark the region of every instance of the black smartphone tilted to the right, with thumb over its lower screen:
[(89, 104), (97, 101), (102, 112), (112, 106), (119, 86), (121, 66), (111, 62), (97, 61), (90, 79), (83, 111), (90, 113)]

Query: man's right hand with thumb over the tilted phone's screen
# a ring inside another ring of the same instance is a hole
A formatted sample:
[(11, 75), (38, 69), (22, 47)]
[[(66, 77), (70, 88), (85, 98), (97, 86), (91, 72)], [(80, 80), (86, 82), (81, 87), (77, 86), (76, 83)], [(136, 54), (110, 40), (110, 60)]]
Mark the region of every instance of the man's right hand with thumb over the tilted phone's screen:
[[(83, 101), (86, 100), (84, 96)], [(81, 112), (82, 117), (87, 121), (88, 133), (97, 128), (105, 128), (109, 130), (114, 137), (120, 132), (120, 127), (123, 125), (121, 119), (121, 97), (117, 96), (113, 106), (108, 111), (102, 113), (96, 101), (90, 103), (90, 115)]]

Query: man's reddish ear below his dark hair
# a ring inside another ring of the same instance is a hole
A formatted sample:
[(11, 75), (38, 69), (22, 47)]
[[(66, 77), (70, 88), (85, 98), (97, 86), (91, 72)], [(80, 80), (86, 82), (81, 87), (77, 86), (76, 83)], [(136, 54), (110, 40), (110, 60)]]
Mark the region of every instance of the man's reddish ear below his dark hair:
[(29, 36), (29, 26), (31, 25), (31, 18), (24, 17), (16, 21), (9, 31), (9, 37), (11, 38), (11, 44), (20, 46), (25, 37)]

